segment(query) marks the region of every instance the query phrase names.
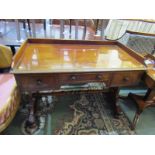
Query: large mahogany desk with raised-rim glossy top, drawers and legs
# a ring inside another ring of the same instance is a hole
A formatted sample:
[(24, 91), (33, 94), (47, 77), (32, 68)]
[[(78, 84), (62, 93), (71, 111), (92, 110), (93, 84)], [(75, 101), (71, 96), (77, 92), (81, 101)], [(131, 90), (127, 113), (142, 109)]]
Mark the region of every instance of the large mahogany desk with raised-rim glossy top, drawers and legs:
[[(143, 57), (116, 41), (27, 39), (12, 63), (18, 87), (33, 103), (36, 92), (103, 82), (112, 92), (115, 112), (119, 87), (135, 85), (145, 70)], [(33, 107), (30, 124), (35, 122)]]

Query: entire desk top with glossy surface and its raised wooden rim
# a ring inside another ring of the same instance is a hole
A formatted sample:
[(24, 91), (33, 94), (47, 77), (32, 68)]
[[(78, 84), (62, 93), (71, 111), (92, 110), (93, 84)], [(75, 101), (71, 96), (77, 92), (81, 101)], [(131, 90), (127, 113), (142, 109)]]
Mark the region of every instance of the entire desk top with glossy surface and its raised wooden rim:
[(13, 73), (145, 70), (143, 58), (117, 41), (27, 39)]

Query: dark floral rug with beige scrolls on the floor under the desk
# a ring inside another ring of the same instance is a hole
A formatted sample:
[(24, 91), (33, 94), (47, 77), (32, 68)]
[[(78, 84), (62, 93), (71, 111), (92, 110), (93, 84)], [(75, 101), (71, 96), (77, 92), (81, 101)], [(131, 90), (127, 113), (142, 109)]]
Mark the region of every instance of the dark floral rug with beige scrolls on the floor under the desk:
[[(69, 96), (64, 96), (69, 97)], [(62, 99), (63, 101), (63, 99)], [(58, 101), (59, 102), (59, 101)], [(69, 101), (72, 103), (72, 100)], [(127, 118), (122, 114), (119, 119), (112, 116), (112, 110), (105, 96), (82, 94), (69, 106), (70, 112), (62, 115), (62, 120), (54, 123), (53, 134), (59, 135), (129, 135), (135, 134), (129, 128)], [(56, 104), (61, 104), (56, 103)], [(55, 109), (56, 110), (56, 109)], [(63, 113), (63, 112), (62, 112)], [(72, 115), (71, 115), (72, 113)], [(67, 118), (67, 119), (66, 119)], [(61, 122), (61, 123), (60, 123)]]

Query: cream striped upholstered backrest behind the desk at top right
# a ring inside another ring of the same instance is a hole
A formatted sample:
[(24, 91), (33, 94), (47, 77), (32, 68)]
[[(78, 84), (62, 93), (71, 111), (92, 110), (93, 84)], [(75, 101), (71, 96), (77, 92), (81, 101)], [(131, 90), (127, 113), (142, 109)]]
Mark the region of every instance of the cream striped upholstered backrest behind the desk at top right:
[(110, 19), (105, 31), (109, 40), (117, 40), (126, 31), (155, 34), (155, 22), (139, 19)]

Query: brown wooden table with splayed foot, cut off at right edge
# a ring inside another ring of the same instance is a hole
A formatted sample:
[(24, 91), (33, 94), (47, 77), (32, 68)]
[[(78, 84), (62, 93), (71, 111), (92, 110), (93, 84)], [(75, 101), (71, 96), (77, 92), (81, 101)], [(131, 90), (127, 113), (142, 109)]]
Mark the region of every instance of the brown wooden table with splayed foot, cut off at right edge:
[[(129, 97), (134, 100), (137, 106), (137, 110), (134, 116), (134, 119), (131, 123), (131, 129), (135, 129), (136, 124), (139, 120), (140, 114), (149, 107), (155, 107), (155, 57), (147, 54), (144, 56), (145, 61), (151, 61), (148, 64), (147, 72), (145, 73), (143, 80), (148, 88), (145, 96), (136, 95), (133, 93), (129, 94)], [(152, 64), (151, 64), (152, 63)]]

